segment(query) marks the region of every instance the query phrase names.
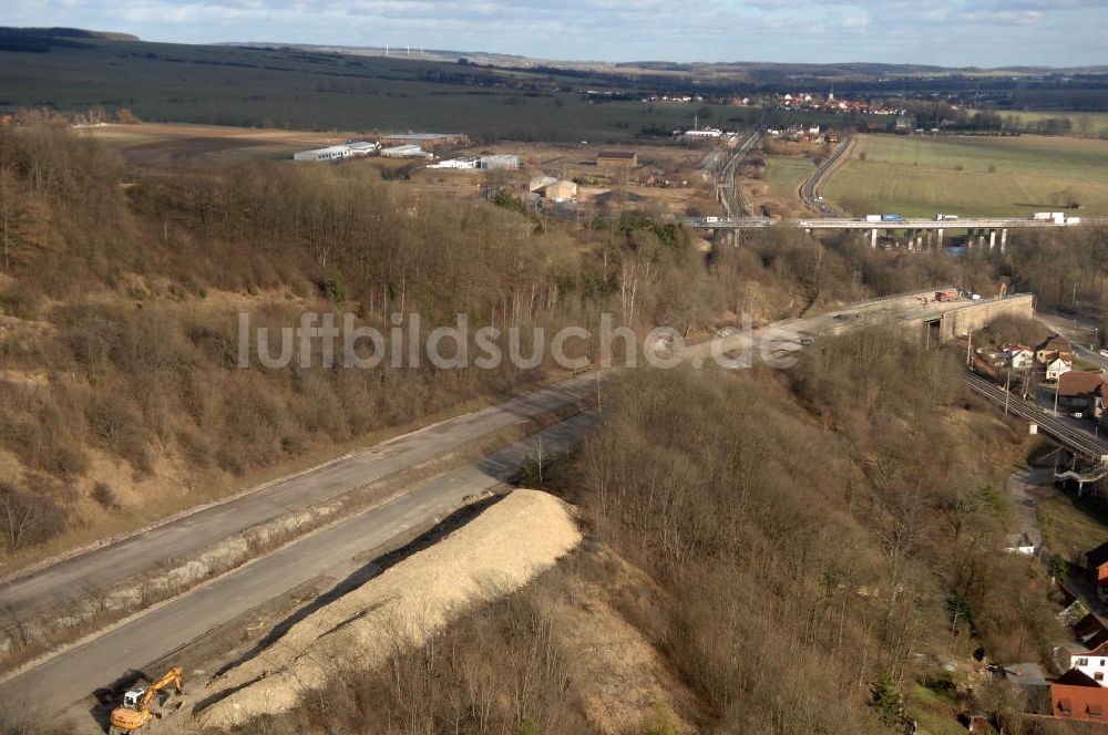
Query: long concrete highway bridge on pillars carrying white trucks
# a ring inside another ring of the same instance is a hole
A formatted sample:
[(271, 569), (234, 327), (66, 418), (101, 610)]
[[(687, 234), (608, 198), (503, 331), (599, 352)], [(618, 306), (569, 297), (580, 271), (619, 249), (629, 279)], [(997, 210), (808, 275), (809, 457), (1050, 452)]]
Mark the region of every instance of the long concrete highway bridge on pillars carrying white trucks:
[(878, 247), (880, 232), (888, 230), (904, 230), (907, 232), (910, 249), (942, 247), (946, 230), (966, 230), (970, 245), (984, 246), (992, 249), (997, 245), (1001, 249), (1007, 247), (1009, 229), (1059, 229), (1069, 227), (1108, 227), (1108, 217), (1084, 217), (1079, 221), (1056, 222), (1050, 219), (1032, 219), (1029, 217), (965, 217), (960, 219), (921, 219), (905, 218), (896, 220), (871, 221), (868, 219), (845, 217), (773, 219), (770, 217), (696, 217), (685, 220), (686, 227), (693, 229), (741, 230), (763, 229), (767, 227), (800, 227), (806, 232), (812, 230), (861, 230), (869, 231), (870, 246)]

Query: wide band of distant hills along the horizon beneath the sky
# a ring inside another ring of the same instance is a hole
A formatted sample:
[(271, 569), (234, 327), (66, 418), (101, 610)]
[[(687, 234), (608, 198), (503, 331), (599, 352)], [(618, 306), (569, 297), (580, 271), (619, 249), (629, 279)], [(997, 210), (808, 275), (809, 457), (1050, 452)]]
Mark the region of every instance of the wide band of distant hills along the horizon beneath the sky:
[[(407, 46), (157, 43), (81, 29), (0, 28), (0, 110), (129, 107), (152, 122), (445, 130), (479, 141), (668, 137), (691, 125), (701, 106), (712, 123), (741, 128), (757, 111), (727, 104), (736, 95), (832, 89), (840, 97), (958, 100), (1002, 112), (1108, 111), (1106, 72), (871, 63), (616, 64)], [(704, 100), (691, 105), (648, 100), (675, 93)]]

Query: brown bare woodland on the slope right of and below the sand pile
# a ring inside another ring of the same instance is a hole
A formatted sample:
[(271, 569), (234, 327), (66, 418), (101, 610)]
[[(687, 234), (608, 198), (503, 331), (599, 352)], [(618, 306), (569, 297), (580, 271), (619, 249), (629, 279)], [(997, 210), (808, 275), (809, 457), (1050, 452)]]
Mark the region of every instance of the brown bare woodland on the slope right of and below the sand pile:
[[(958, 370), (872, 332), (786, 373), (635, 372), (545, 475), (582, 508), (587, 550), (386, 669), (336, 677), (294, 721), (245, 732), (594, 732), (581, 712), (601, 694), (548, 600), (611, 584), (608, 551), (656, 584), (613, 604), (694, 693), (677, 714), (697, 732), (902, 732), (913, 686), (1034, 732), (1012, 716), (1018, 693), (955, 693), (942, 669), (978, 646), (1039, 660), (1060, 632), (1045, 572), (1002, 550), (996, 488), (1023, 438), (976, 411)], [(627, 732), (681, 732), (643, 717)]]

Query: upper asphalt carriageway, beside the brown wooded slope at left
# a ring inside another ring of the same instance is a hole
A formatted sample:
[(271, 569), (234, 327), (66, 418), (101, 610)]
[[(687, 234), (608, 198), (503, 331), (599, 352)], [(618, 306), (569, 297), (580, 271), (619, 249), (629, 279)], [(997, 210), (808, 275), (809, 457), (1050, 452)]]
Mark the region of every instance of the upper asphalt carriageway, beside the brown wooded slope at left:
[(463, 444), (523, 424), (596, 391), (595, 376), (581, 376), (397, 437), (322, 467), (271, 483), (76, 555), (0, 587), (0, 605), (37, 609), (160, 568), (166, 560), (212, 546), (289, 511), (342, 495), (406, 467), (432, 460)]

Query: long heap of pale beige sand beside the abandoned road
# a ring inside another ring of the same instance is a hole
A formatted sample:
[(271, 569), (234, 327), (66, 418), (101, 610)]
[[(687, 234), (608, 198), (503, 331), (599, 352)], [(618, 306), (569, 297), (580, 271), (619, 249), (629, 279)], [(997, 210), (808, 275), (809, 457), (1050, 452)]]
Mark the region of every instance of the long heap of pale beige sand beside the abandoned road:
[(211, 682), (208, 696), (230, 694), (199, 716), (205, 725), (230, 727), (287, 712), (341, 666), (377, 666), (398, 646), (424, 643), (468, 608), (520, 589), (579, 541), (570, 506), (545, 493), (514, 490)]

